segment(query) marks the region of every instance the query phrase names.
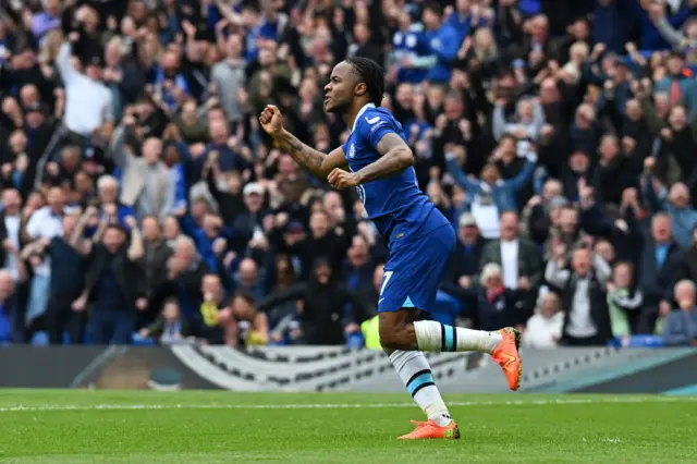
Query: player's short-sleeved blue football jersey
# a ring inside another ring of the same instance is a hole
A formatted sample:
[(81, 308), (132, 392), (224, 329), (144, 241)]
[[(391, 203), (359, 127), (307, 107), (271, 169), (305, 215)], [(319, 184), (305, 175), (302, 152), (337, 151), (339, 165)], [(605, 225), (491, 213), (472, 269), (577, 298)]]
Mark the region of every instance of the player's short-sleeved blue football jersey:
[[(390, 133), (406, 142), (402, 124), (388, 110), (366, 105), (342, 146), (351, 172), (377, 161), (380, 158), (378, 143)], [(358, 185), (356, 190), (378, 231), (390, 242), (406, 235), (418, 236), (449, 223), (418, 188), (412, 167), (391, 178)]]

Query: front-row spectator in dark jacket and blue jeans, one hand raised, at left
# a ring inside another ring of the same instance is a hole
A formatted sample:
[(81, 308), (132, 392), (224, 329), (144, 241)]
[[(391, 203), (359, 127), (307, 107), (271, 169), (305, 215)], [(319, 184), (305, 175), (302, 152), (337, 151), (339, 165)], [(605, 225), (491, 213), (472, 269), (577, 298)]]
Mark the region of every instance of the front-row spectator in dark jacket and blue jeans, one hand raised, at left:
[(91, 253), (85, 277), (85, 290), (73, 302), (73, 310), (85, 310), (94, 303), (90, 314), (91, 338), (96, 344), (129, 344), (135, 328), (135, 309), (147, 307), (143, 269), (143, 240), (135, 218), (126, 219), (131, 228), (131, 244), (126, 246), (124, 230), (117, 224), (106, 225), (103, 239)]

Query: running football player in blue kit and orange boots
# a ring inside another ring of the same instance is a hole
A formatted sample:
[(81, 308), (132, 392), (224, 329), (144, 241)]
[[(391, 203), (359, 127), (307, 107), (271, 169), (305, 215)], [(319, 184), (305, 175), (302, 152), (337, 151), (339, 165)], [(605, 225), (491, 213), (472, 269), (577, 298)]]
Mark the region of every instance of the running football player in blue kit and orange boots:
[(259, 115), (276, 145), (337, 190), (355, 188), (368, 217), (388, 241), (378, 300), (380, 343), (428, 422), (401, 439), (456, 439), (457, 425), (436, 387), (423, 352), (489, 353), (516, 390), (521, 378), (519, 333), (469, 330), (424, 320), (433, 309), (441, 278), (455, 246), (448, 219), (416, 183), (414, 154), (402, 125), (380, 108), (384, 71), (375, 61), (351, 58), (332, 70), (325, 109), (352, 127), (343, 146), (329, 155), (303, 144), (283, 127), (274, 106)]

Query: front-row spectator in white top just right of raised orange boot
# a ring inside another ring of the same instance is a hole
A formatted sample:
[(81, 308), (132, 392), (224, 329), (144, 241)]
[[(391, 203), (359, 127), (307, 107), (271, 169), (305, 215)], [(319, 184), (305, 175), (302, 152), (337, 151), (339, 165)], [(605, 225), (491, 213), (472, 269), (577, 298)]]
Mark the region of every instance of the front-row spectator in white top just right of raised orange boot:
[(562, 338), (564, 314), (560, 312), (561, 300), (553, 292), (546, 291), (539, 298), (538, 307), (525, 326), (523, 346), (531, 349), (555, 347)]

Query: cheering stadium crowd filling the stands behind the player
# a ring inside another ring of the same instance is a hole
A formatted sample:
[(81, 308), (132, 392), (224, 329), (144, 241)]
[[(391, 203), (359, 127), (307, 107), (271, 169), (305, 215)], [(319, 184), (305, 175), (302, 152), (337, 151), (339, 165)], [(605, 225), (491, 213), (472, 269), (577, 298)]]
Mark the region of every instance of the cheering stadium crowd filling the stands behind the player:
[(362, 56), (457, 231), (433, 317), (695, 345), (696, 50), (695, 0), (2, 0), (0, 341), (379, 345), (382, 239), (257, 120), (329, 151)]

